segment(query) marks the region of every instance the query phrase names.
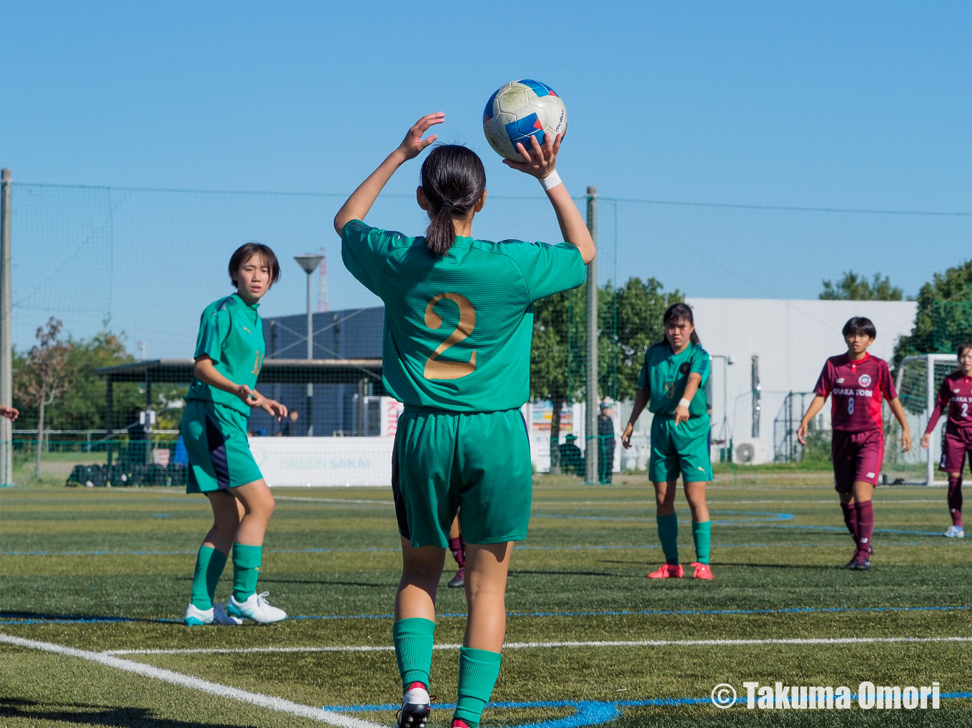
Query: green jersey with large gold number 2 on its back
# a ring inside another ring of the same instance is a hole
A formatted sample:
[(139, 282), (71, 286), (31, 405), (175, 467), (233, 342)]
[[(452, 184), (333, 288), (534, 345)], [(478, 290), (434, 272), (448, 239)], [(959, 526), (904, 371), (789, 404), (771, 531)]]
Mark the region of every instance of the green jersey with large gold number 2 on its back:
[(424, 237), (358, 220), (344, 226), (341, 257), (385, 302), (385, 389), (406, 405), (458, 412), (523, 406), (533, 303), (586, 275), (571, 243), (457, 237), (436, 256)]

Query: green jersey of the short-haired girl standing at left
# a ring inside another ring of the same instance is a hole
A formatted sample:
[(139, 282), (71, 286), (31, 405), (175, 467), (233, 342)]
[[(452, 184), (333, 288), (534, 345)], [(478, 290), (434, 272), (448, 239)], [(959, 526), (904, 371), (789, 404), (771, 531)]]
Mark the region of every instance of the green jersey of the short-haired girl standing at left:
[[(199, 317), (199, 336), (194, 358), (203, 355), (216, 364), (216, 370), (234, 384), (257, 386), (257, 375), (266, 352), (259, 303), (247, 303), (238, 294), (220, 298), (206, 306)], [(250, 405), (242, 399), (192, 377), (186, 399), (203, 399), (250, 414)]]

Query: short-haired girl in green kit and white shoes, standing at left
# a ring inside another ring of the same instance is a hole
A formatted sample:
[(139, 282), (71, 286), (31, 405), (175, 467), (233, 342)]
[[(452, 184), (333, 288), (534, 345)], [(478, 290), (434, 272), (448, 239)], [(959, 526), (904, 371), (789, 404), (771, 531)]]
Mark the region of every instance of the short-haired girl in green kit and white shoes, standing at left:
[[(260, 408), (279, 422), (287, 407), (255, 389), (263, 365), (260, 298), (280, 277), (277, 257), (265, 245), (247, 243), (229, 259), (236, 293), (206, 306), (199, 321), (195, 367), (180, 431), (189, 454), (187, 493), (204, 493), (213, 527), (195, 561), (187, 624), (279, 622), (287, 612), (257, 594), (263, 532), (273, 496), (250, 452), (246, 421)], [(232, 548), (233, 591), (226, 607), (213, 604), (216, 585)]]

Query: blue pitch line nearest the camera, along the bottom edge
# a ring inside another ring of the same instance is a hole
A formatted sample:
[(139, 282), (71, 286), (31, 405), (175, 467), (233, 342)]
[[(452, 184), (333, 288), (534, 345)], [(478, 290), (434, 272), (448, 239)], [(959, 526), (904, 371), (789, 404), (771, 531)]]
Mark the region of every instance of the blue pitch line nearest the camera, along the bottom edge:
[[(968, 700), (972, 698), (970, 692), (942, 693), (942, 700)], [(852, 695), (851, 700), (857, 696)], [(525, 709), (525, 708), (573, 708), (573, 714), (563, 718), (543, 720), (537, 723), (522, 723), (516, 728), (584, 728), (591, 725), (603, 725), (619, 717), (625, 708), (664, 708), (678, 706), (712, 705), (712, 699), (706, 698), (648, 698), (645, 700), (559, 700), (559, 701), (531, 701), (524, 703), (499, 702), (489, 703), (487, 709)], [(746, 698), (737, 700), (734, 710), (746, 710)], [(434, 711), (454, 711), (455, 703), (434, 703)], [(382, 704), (373, 706), (326, 706), (324, 710), (335, 712), (394, 712), (399, 710), (396, 704)]]

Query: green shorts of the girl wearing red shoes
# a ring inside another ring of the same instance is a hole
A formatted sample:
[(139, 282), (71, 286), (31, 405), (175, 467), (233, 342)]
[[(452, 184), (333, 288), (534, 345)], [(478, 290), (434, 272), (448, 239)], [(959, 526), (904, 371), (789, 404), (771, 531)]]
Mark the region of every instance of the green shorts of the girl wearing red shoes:
[(709, 460), (709, 418), (690, 417), (676, 427), (675, 418), (655, 415), (651, 421), (651, 460), (648, 480), (661, 483), (678, 479), (683, 483), (712, 480)]

